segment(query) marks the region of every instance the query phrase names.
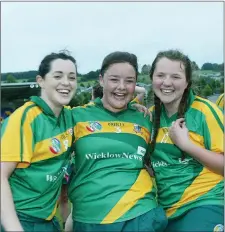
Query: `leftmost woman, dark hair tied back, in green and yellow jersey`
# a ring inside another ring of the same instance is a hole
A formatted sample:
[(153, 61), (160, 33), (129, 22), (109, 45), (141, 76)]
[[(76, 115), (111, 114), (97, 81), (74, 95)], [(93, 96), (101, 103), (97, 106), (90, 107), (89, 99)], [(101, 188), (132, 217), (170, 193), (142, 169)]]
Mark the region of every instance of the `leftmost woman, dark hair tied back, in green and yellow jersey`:
[(62, 52), (39, 66), (40, 97), (1, 129), (1, 224), (5, 231), (57, 231), (61, 186), (70, 161), (73, 122), (64, 107), (76, 89), (76, 61)]

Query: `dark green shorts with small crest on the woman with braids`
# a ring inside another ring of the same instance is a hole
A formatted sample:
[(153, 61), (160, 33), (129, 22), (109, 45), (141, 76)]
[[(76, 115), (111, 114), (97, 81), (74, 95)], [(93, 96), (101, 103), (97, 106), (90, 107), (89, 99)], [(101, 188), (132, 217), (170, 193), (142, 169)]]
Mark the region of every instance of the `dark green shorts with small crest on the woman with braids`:
[(205, 205), (168, 221), (165, 232), (221, 232), (224, 226), (224, 207)]

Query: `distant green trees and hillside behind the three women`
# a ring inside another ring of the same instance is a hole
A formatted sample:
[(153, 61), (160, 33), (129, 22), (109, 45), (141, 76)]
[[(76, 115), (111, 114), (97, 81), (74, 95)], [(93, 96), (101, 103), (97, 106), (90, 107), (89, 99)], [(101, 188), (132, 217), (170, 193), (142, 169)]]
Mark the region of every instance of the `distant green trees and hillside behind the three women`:
[[(141, 68), (139, 73), (139, 82), (143, 83), (151, 83), (149, 80), (149, 71), (151, 69), (150, 65), (144, 64)], [(204, 63), (199, 69), (196, 62), (192, 62), (192, 69), (202, 70), (202, 71), (214, 71), (220, 72), (221, 78), (214, 79), (210, 76), (202, 77), (202, 76), (195, 76), (193, 75), (193, 84), (192, 88), (194, 89), (195, 93), (202, 97), (208, 97), (215, 93), (223, 93), (224, 92), (224, 63), (222, 64), (215, 64), (215, 63)], [(37, 71), (27, 71), (27, 72), (15, 72), (15, 73), (3, 73), (2, 80), (6, 81), (7, 83), (15, 83), (18, 80), (23, 80), (24, 82), (35, 82)], [(87, 74), (80, 74), (78, 73), (78, 82), (80, 82), (80, 87), (88, 88), (90, 87), (90, 83), (88, 81), (94, 81), (93, 83), (96, 84), (98, 77), (100, 74), (100, 70), (90, 71)], [(147, 80), (148, 79), (148, 80)], [(147, 82), (148, 81), (148, 82)], [(21, 82), (21, 81), (20, 81)], [(87, 83), (84, 85), (84, 83)], [(78, 88), (79, 90), (79, 88)], [(71, 106), (78, 106), (86, 104), (90, 101), (91, 94), (90, 92), (80, 92), (77, 91), (76, 96), (71, 101)], [(146, 99), (146, 105), (151, 105), (153, 102), (153, 93), (150, 88), (148, 93), (148, 98)]]

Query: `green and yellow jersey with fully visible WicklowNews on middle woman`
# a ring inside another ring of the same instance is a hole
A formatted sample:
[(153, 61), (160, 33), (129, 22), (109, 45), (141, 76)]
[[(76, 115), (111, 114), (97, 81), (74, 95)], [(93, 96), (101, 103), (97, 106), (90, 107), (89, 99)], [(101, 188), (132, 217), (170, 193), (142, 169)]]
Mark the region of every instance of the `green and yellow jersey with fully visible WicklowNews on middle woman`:
[(142, 161), (150, 138), (149, 118), (131, 105), (113, 113), (99, 98), (72, 112), (76, 175), (69, 198), (73, 220), (110, 224), (155, 208), (155, 188)]

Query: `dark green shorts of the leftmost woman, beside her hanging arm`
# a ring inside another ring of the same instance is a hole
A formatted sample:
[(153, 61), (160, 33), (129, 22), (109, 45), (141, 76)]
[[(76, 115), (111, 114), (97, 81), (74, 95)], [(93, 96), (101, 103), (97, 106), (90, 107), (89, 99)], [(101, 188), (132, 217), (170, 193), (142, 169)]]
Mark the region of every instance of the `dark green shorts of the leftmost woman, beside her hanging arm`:
[[(61, 231), (58, 220), (54, 217), (50, 221), (38, 219), (24, 214), (17, 214), (25, 232), (57, 232)], [(1, 231), (5, 231), (1, 226)]]

